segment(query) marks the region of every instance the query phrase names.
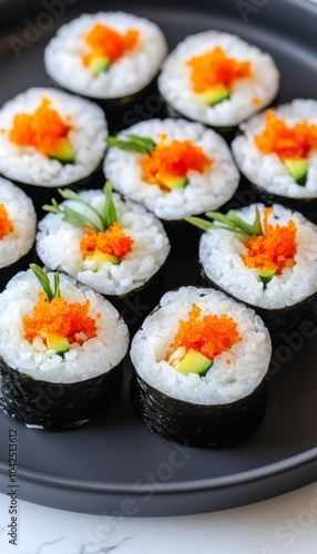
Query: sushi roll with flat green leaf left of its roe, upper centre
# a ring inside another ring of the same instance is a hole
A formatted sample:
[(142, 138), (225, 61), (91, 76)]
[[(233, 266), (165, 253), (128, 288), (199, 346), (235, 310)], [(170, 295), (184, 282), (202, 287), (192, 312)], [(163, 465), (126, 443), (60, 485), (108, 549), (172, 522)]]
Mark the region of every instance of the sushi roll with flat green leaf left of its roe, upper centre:
[(114, 189), (166, 222), (217, 209), (238, 186), (226, 142), (201, 123), (143, 121), (106, 142), (104, 173)]

